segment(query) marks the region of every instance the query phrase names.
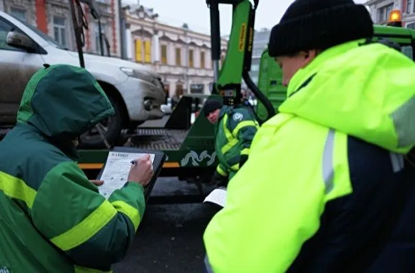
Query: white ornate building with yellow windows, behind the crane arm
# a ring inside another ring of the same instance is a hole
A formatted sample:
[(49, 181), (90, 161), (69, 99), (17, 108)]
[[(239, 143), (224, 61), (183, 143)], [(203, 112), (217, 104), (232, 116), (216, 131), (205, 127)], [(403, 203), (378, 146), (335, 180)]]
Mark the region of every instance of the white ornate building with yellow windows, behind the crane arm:
[[(129, 60), (156, 71), (168, 97), (184, 93), (209, 94), (213, 82), (211, 37), (158, 22), (158, 15), (143, 5), (123, 7)], [(222, 60), (227, 40), (222, 39)]]

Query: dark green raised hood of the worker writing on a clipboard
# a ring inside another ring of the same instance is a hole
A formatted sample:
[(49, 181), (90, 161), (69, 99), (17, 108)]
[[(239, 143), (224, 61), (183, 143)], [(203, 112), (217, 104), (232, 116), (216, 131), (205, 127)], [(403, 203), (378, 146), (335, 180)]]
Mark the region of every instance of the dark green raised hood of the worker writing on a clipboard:
[(27, 83), (17, 123), (28, 123), (51, 139), (74, 139), (113, 115), (93, 75), (80, 67), (51, 65)]

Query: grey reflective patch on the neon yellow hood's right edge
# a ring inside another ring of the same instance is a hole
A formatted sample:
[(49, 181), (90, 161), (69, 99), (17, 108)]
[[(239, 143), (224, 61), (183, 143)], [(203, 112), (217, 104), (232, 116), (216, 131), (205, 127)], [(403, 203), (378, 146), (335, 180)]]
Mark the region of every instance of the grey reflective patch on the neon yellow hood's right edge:
[(390, 114), (398, 137), (398, 147), (415, 143), (415, 96)]

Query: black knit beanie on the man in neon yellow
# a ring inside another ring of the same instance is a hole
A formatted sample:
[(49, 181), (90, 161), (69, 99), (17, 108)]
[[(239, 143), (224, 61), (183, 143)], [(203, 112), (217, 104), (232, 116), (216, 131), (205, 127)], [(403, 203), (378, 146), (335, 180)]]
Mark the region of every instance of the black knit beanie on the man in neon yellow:
[(324, 50), (372, 36), (373, 22), (364, 5), (353, 0), (296, 0), (272, 27), (268, 54), (277, 57)]

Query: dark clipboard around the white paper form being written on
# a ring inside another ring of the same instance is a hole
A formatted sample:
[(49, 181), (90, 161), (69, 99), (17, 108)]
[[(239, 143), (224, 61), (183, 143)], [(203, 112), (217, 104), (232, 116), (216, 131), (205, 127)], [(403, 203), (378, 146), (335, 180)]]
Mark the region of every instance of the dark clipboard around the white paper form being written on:
[[(148, 198), (150, 198), (150, 193), (153, 190), (154, 185), (156, 184), (156, 180), (158, 178), (158, 175), (161, 172), (161, 169), (163, 168), (163, 164), (165, 162), (166, 155), (165, 153), (157, 150), (144, 150), (134, 147), (113, 147), (112, 150), (109, 152), (127, 152), (132, 154), (154, 154), (154, 161), (153, 161), (153, 170), (154, 175), (147, 186), (144, 187), (144, 198), (145, 202), (147, 203)], [(102, 173), (104, 172), (106, 163), (104, 163), (104, 166), (99, 171), (99, 174), (97, 176), (97, 180), (100, 180), (102, 177)]]

